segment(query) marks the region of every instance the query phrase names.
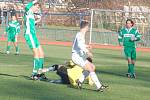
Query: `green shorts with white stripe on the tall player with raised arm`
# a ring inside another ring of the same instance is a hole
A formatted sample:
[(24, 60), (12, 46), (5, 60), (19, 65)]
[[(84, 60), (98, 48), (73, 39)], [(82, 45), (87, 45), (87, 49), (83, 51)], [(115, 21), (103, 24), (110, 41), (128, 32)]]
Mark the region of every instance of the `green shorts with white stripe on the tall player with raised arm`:
[(38, 48), (40, 46), (36, 34), (25, 34), (24, 37), (30, 49)]

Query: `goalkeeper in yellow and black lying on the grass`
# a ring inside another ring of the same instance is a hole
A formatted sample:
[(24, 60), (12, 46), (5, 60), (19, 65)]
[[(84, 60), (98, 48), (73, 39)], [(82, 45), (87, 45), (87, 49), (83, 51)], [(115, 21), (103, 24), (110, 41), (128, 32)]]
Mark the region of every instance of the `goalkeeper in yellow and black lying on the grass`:
[[(91, 58), (87, 58), (89, 62), (92, 63)], [(60, 76), (60, 80), (53, 80), (49, 79), (48, 82), (51, 83), (62, 83), (62, 84), (69, 84), (72, 87), (78, 88), (78, 79), (82, 76), (82, 74), (86, 74), (86, 83), (90, 86), (94, 85), (93, 80), (89, 75), (89, 71), (83, 70), (80, 66), (76, 65), (72, 60), (66, 62), (65, 64), (54, 64), (48, 68), (43, 68), (42, 70), (38, 71), (38, 74), (41, 75), (42, 73), (56, 71), (56, 74)], [(39, 76), (40, 80), (40, 76)], [(103, 92), (105, 88), (108, 88), (107, 85), (102, 85), (103, 89), (100, 91)]]

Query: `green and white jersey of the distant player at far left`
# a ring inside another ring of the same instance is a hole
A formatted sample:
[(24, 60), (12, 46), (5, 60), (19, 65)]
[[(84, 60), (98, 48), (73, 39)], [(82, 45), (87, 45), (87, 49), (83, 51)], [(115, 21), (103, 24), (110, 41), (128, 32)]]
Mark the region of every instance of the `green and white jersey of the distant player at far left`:
[(20, 33), (20, 24), (17, 20), (10, 21), (7, 28), (6, 33), (8, 37), (15, 37), (15, 35), (18, 35)]

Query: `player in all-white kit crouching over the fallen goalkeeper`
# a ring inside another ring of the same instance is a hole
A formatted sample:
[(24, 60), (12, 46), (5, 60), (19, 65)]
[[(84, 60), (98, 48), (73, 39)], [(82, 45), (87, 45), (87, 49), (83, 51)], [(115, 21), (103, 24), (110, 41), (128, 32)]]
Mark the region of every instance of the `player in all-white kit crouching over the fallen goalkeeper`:
[(85, 35), (89, 29), (89, 23), (87, 21), (82, 21), (80, 24), (80, 32), (77, 33), (72, 46), (72, 61), (81, 66), (85, 71), (81, 75), (81, 77), (76, 81), (78, 87), (82, 88), (82, 83), (85, 78), (90, 75), (92, 81), (95, 83), (97, 87), (97, 91), (103, 92), (103, 89), (108, 87), (104, 86), (100, 83), (96, 73), (95, 66), (93, 63), (89, 62), (86, 58), (92, 57), (92, 53), (90, 52), (90, 45), (85, 44)]

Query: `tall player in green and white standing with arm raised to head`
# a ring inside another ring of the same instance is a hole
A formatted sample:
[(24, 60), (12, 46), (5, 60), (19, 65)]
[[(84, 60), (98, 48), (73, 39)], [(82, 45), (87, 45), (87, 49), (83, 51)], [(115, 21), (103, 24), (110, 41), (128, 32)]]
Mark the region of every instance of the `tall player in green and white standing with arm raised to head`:
[(44, 64), (44, 52), (38, 41), (36, 36), (36, 21), (34, 17), (34, 13), (39, 12), (40, 4), (38, 0), (34, 0), (29, 2), (25, 7), (25, 16), (24, 16), (24, 24), (25, 24), (25, 32), (24, 38), (29, 48), (33, 51), (33, 72), (31, 78), (34, 80), (37, 79), (46, 79), (44, 74), (37, 74), (38, 70), (43, 69)]

